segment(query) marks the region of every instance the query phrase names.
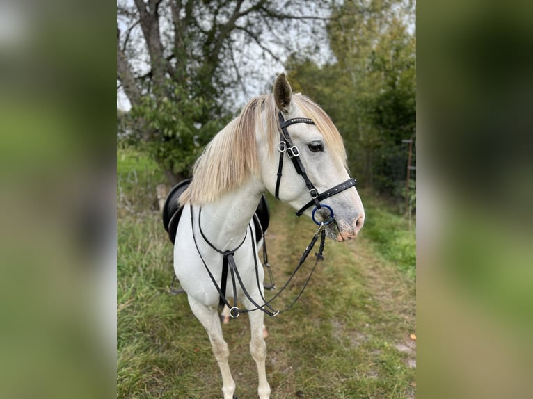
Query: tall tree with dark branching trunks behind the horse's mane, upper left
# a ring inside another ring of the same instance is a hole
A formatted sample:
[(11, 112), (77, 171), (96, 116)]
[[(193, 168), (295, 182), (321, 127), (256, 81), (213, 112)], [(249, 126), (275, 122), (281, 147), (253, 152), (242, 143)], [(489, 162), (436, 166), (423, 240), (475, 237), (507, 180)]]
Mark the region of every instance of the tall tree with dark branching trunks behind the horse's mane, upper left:
[(327, 20), (326, 1), (309, 3), (118, 1), (118, 87), (132, 104), (143, 147), (170, 182), (189, 175), (233, 116), (236, 88), (246, 91), (246, 76), (261, 72), (257, 63), (281, 66), (294, 38)]

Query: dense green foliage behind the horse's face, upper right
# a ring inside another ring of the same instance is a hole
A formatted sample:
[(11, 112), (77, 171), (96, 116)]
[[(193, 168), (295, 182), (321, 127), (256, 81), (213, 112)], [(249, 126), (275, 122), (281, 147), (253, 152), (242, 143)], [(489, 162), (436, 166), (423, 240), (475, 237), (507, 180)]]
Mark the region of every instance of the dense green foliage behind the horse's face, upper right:
[[(328, 24), (336, 62), (287, 61), (294, 88), (319, 101), (341, 131), (360, 186), (398, 204), (408, 155), (401, 140), (414, 138), (416, 123), (416, 41), (406, 26), (411, 14), (401, 1), (344, 1)], [(415, 158), (413, 146), (413, 165)]]

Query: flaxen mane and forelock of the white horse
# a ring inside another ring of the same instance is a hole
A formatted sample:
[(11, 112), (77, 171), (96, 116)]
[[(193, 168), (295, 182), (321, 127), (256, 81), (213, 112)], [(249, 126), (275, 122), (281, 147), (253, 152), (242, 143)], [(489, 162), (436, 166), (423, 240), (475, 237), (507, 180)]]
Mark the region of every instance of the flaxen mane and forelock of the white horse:
[[(292, 101), (305, 117), (311, 118), (324, 136), (326, 147), (333, 156), (342, 159), (346, 168), (346, 152), (342, 137), (330, 117), (320, 106), (303, 95), (293, 95)], [(264, 113), (266, 132), (262, 123)], [(191, 202), (204, 205), (237, 188), (250, 176), (259, 175), (255, 130), (266, 134), (269, 154), (273, 156), (274, 142), (279, 140), (278, 110), (273, 95), (250, 100), (241, 114), (222, 129), (205, 147), (193, 169), (191, 185), (180, 196), (180, 204)]]

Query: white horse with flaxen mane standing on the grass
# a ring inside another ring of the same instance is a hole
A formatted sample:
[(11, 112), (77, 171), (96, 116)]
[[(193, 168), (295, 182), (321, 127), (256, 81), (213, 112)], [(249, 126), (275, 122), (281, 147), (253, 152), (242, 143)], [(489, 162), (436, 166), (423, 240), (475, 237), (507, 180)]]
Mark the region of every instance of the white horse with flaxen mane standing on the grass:
[[(227, 286), (225, 296), (238, 297), (247, 309), (238, 309), (235, 303), (233, 317), (249, 312), (250, 352), (259, 374), (257, 393), (260, 399), (270, 398), (263, 319), (264, 311), (271, 316), (276, 313), (262, 306), (264, 271), (257, 268), (261, 263), (250, 228), (262, 193), (268, 190), (300, 209), (299, 213), (312, 215), (317, 224), (327, 225), (330, 238), (344, 241), (355, 238), (365, 220), (354, 185), (335, 125), (308, 97), (292, 94), (285, 74), (276, 79), (273, 94), (248, 102), (198, 158), (191, 185), (180, 197), (184, 208), (177, 227), (174, 270), (193, 314), (209, 334), (224, 399), (235, 398), (235, 383), (217, 313), (221, 286)], [(222, 281), (224, 260), (230, 263), (231, 275)], [(232, 266), (238, 270), (237, 279)]]

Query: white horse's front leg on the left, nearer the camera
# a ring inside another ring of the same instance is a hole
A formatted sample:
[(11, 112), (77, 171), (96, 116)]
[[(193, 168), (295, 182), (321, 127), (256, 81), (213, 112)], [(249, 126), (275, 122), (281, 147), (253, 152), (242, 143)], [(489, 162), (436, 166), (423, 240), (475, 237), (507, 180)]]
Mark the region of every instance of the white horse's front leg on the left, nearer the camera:
[(228, 344), (224, 341), (222, 336), (221, 320), (218, 317), (217, 308), (206, 307), (190, 295), (189, 304), (191, 305), (193, 314), (198, 320), (200, 320), (200, 323), (202, 323), (209, 335), (213, 355), (218, 363), (218, 367), (221, 369), (224, 399), (234, 399), (235, 382), (233, 381), (230, 364), (228, 363), (230, 350), (228, 350)]

